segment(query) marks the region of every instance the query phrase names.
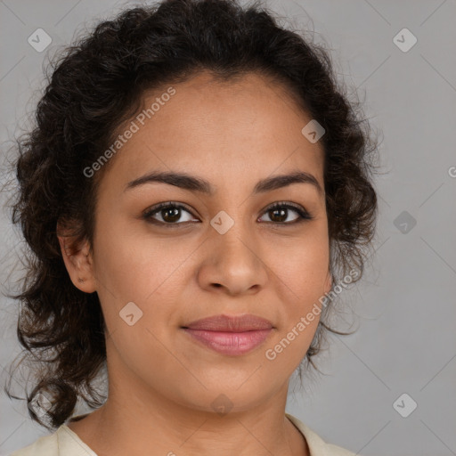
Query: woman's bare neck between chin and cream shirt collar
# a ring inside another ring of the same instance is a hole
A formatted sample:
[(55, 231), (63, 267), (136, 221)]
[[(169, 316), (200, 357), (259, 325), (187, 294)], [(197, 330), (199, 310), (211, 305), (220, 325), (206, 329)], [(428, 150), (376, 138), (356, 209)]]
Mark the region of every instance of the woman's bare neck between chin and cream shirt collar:
[(68, 424), (98, 456), (310, 456), (304, 436), (285, 416), (288, 382), (262, 403), (219, 414), (178, 403), (131, 372), (113, 375), (118, 366), (108, 364), (108, 370), (106, 403)]

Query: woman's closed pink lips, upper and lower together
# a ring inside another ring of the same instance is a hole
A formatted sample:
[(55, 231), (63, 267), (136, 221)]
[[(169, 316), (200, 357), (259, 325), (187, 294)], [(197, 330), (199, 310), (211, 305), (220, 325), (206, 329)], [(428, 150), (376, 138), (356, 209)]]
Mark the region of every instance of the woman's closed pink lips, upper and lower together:
[(263, 344), (273, 331), (273, 323), (252, 314), (216, 315), (182, 327), (202, 345), (226, 355), (246, 354)]

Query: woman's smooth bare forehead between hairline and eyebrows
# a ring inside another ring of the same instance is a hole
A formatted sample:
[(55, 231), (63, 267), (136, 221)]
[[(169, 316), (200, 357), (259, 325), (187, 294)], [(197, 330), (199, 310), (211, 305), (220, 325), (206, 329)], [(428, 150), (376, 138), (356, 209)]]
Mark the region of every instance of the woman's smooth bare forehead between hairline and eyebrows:
[(149, 116), (118, 129), (122, 134), (135, 125), (112, 159), (105, 185), (125, 185), (152, 170), (179, 170), (204, 175), (217, 187), (299, 169), (323, 186), (322, 146), (301, 133), (311, 118), (285, 86), (256, 73), (219, 81), (205, 71), (162, 96), (169, 88), (143, 94), (142, 112), (149, 109)]

